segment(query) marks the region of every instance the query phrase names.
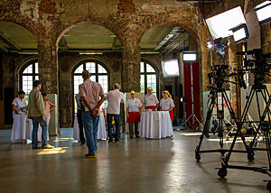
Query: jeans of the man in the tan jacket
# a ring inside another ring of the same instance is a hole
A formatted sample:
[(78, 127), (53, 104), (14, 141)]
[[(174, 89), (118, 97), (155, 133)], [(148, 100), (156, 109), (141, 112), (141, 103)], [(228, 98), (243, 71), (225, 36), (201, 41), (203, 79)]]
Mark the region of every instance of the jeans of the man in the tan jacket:
[(32, 123), (33, 123), (33, 131), (32, 131), (32, 147), (36, 148), (38, 146), (38, 138), (37, 133), (39, 130), (39, 124), (41, 124), (42, 127), (42, 147), (45, 147), (47, 145), (47, 118), (45, 118), (45, 121), (42, 120), (42, 116), (39, 117), (32, 117)]

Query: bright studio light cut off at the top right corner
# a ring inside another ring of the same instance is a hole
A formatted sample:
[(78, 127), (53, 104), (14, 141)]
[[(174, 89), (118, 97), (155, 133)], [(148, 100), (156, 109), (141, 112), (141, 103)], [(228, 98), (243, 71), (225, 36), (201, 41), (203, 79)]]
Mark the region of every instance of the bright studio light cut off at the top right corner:
[(266, 1), (260, 5), (257, 5), (254, 10), (256, 11), (259, 24), (264, 24), (271, 21), (271, 1)]

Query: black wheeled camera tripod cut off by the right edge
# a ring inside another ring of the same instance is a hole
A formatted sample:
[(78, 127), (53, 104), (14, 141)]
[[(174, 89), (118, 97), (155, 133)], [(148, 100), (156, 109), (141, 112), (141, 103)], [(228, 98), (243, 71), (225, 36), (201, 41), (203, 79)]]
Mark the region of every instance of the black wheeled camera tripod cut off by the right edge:
[[(223, 162), (221, 163), (221, 168), (218, 172), (218, 175), (220, 176), (220, 178), (224, 178), (225, 176), (227, 176), (227, 173), (228, 173), (227, 169), (228, 168), (229, 169), (237, 169), (237, 170), (253, 170), (256, 172), (264, 173), (264, 174), (268, 175), (269, 177), (271, 177), (271, 173), (270, 173), (270, 171), (271, 171), (271, 149), (270, 149), (270, 144), (271, 144), (270, 121), (271, 121), (271, 119), (270, 119), (270, 113), (271, 112), (269, 109), (269, 106), (271, 103), (271, 97), (268, 93), (266, 85), (264, 85), (263, 82), (264, 82), (263, 78), (259, 79), (259, 78), (257, 78), (257, 76), (255, 76), (254, 85), (252, 86), (251, 91), (249, 93), (248, 101), (246, 103), (244, 112), (241, 116), (240, 121), (237, 122), (237, 127), (238, 127), (237, 133), (235, 134), (233, 142), (231, 143), (229, 153), (226, 155), (226, 157), (223, 159)], [(266, 108), (263, 111), (263, 114), (261, 114), (261, 111), (260, 111), (259, 94), (263, 97), (265, 105), (266, 105)], [(257, 127), (257, 132), (255, 133), (255, 136), (254, 136), (252, 142), (250, 142), (250, 144), (249, 144), (249, 150), (251, 151), (251, 155), (253, 155), (253, 156), (254, 156), (254, 152), (253, 152), (254, 150), (255, 151), (266, 151), (269, 168), (229, 165), (230, 155), (231, 155), (231, 152), (233, 152), (233, 148), (234, 148), (235, 143), (237, 141), (238, 134), (240, 133), (240, 130), (242, 129), (242, 125), (244, 123), (251, 123), (251, 122), (246, 121), (245, 117), (248, 114), (248, 109), (251, 106), (251, 102), (252, 102), (253, 97), (255, 97), (255, 96), (257, 99), (257, 114), (259, 117), (259, 121), (254, 121), (254, 123), (258, 124), (258, 127)], [(265, 121), (266, 115), (267, 115), (268, 121)], [(257, 143), (258, 133), (260, 133), (260, 132), (262, 132), (264, 135), (266, 148), (255, 148), (254, 147), (255, 144)], [(271, 190), (271, 181), (268, 181), (267, 189)]]

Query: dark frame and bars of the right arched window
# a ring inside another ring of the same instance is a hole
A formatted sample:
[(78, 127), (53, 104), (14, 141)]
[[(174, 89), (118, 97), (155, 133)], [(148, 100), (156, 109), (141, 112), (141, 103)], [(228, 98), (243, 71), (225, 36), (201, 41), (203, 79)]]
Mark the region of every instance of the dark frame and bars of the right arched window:
[[(141, 66), (140, 66), (140, 76), (144, 75), (144, 85), (145, 85), (145, 95), (147, 94), (147, 75), (156, 75), (156, 97), (159, 98), (159, 69), (154, 65), (154, 63), (151, 60), (147, 59), (141, 59), (141, 62), (144, 62), (144, 72), (141, 72)], [(154, 72), (147, 72), (146, 71), (146, 65), (150, 65)], [(141, 64), (140, 64), (141, 65)]]

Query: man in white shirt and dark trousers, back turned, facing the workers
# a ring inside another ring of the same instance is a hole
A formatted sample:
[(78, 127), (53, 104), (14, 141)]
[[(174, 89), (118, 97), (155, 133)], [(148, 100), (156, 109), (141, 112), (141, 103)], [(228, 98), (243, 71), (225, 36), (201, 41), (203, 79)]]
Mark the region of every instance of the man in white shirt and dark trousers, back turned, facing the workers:
[(120, 138), (120, 103), (124, 103), (124, 95), (119, 91), (119, 84), (114, 85), (114, 90), (110, 90), (107, 94), (106, 100), (108, 101), (107, 105), (107, 132), (108, 132), (108, 142), (113, 142), (113, 133), (112, 133), (112, 118), (116, 124), (116, 136), (115, 142), (119, 142)]

